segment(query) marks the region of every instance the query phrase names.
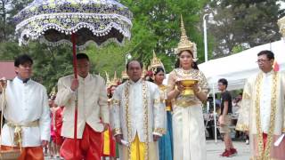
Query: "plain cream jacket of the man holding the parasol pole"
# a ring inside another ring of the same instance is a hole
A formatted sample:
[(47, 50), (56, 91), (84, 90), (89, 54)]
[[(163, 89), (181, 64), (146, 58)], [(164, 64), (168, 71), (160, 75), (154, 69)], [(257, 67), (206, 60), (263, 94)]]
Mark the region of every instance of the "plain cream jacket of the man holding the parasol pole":
[[(74, 76), (64, 76), (59, 79), (58, 93), (55, 99), (58, 106), (65, 106), (61, 135), (67, 138), (74, 138), (76, 94), (70, 89), (73, 78)], [(85, 123), (89, 124), (96, 132), (103, 131), (102, 122), (109, 124), (109, 108), (106, 85), (101, 76), (90, 74), (85, 78), (78, 76), (78, 81), (77, 138), (82, 139)]]

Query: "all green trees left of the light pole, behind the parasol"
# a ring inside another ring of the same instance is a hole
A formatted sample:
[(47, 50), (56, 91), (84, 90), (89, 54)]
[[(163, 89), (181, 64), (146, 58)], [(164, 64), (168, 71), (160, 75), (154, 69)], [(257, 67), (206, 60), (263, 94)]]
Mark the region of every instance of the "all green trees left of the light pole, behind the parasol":
[[(1, 0), (0, 0), (1, 1)], [(0, 60), (13, 60), (20, 53), (26, 52), (35, 60), (34, 77), (51, 89), (60, 76), (72, 73), (71, 47), (47, 47), (45, 44), (30, 43), (19, 47), (14, 42), (14, 24), (12, 16), (24, 8), (31, 0), (3, 0), (9, 7), (8, 17), (2, 19), (0, 28)], [(109, 44), (96, 48), (90, 44), (85, 51), (92, 60), (92, 72), (104, 76), (108, 71), (113, 76), (117, 70), (118, 76), (125, 69), (125, 55), (131, 53), (134, 59), (142, 60), (149, 65), (152, 50), (164, 62), (167, 72), (175, 64), (174, 48), (180, 39), (180, 15), (183, 15), (187, 35), (192, 42), (198, 44), (199, 60), (203, 60), (203, 37), (200, 29), (201, 11), (208, 0), (121, 0), (134, 13), (132, 38), (124, 46)], [(3, 11), (0, 9), (0, 11)], [(8, 20), (9, 23), (3, 23)], [(9, 29), (9, 31), (7, 31)], [(3, 38), (5, 37), (5, 38)]]

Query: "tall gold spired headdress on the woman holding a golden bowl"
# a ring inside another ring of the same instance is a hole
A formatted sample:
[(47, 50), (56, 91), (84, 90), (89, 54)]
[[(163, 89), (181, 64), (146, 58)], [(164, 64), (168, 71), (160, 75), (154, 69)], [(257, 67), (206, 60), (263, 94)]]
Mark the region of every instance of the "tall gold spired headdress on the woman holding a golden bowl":
[(186, 35), (186, 30), (184, 28), (183, 18), (181, 16), (181, 37), (180, 42), (178, 43), (177, 48), (175, 49), (175, 53), (178, 54), (180, 52), (183, 52), (185, 50), (189, 50), (193, 54), (193, 60), (197, 61), (197, 47), (195, 43), (192, 43), (188, 36)]

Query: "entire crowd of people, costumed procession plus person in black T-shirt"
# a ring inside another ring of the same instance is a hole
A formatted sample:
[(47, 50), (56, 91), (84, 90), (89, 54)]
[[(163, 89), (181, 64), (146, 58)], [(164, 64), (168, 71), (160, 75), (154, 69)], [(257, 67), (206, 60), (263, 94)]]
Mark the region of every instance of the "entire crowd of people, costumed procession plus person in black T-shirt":
[[(183, 22), (175, 51), (177, 61), (167, 85), (162, 84), (166, 70), (155, 53), (146, 72), (142, 72), (141, 61), (128, 61), (124, 82), (117, 76), (110, 80), (108, 74), (105, 82), (90, 74), (88, 56), (78, 53), (78, 77), (61, 77), (57, 92), (54, 89), (49, 98), (45, 86), (31, 79), (33, 60), (20, 55), (14, 61), (17, 76), (12, 81), (1, 80), (0, 104), (5, 118), (1, 151), (20, 149), (20, 160), (44, 159), (43, 148), (67, 160), (106, 156), (205, 160), (202, 106), (208, 99), (208, 83), (197, 66), (196, 44), (186, 36)], [(273, 52), (257, 54), (260, 72), (248, 79), (240, 102), (236, 129), (249, 135), (250, 157), (255, 160), (285, 159), (285, 140), (281, 138), (285, 132), (285, 75), (273, 71), (273, 60)], [(194, 84), (189, 87), (184, 80)], [(232, 97), (226, 87), (226, 79), (220, 79), (218, 124), (225, 146), (221, 156), (234, 156), (238, 151), (229, 134)]]

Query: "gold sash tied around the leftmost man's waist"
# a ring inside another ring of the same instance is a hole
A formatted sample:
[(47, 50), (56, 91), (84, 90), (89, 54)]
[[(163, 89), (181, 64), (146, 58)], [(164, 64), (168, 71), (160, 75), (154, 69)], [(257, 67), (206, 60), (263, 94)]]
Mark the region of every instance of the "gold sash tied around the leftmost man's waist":
[(33, 121), (33, 122), (28, 122), (25, 124), (16, 124), (13, 123), (12, 121), (8, 121), (7, 125), (11, 128), (15, 128), (14, 130), (14, 143), (15, 145), (21, 145), (22, 142), (22, 127), (37, 127), (39, 125), (39, 121)]

